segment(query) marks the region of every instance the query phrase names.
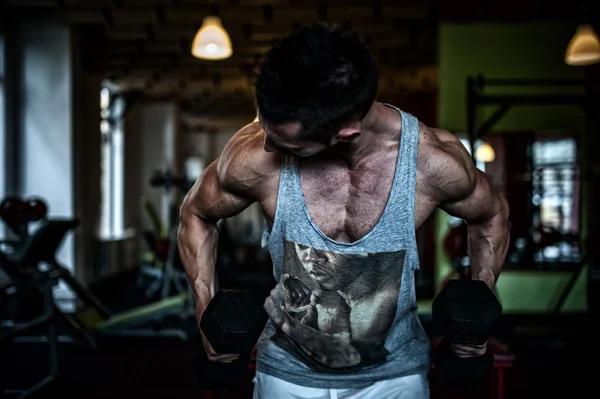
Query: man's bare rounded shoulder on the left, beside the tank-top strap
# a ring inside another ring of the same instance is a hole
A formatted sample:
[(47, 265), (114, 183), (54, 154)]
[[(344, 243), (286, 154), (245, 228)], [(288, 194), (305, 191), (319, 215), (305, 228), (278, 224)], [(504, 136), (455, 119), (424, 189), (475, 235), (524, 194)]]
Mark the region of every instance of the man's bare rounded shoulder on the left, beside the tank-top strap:
[(264, 149), (264, 131), (253, 122), (241, 128), (219, 157), (217, 176), (226, 185), (258, 183), (279, 170), (279, 153)]

